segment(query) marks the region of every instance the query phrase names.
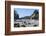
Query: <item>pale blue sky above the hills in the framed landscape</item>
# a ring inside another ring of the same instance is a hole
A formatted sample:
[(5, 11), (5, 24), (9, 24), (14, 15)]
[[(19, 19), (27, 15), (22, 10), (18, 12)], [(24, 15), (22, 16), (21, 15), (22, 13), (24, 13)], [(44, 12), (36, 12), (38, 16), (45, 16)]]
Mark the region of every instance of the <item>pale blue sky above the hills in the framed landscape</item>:
[(19, 18), (31, 16), (35, 10), (38, 9), (15, 8), (15, 11), (19, 14)]

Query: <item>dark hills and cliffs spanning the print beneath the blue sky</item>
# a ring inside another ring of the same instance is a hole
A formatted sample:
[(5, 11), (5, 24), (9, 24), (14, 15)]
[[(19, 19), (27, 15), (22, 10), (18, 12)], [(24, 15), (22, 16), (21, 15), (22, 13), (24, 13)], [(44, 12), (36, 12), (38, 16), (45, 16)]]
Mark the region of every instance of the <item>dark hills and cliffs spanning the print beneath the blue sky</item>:
[[(16, 11), (14, 11), (16, 12)], [(14, 13), (14, 19), (39, 19), (39, 11), (35, 10), (32, 15), (19, 18), (19, 14)]]

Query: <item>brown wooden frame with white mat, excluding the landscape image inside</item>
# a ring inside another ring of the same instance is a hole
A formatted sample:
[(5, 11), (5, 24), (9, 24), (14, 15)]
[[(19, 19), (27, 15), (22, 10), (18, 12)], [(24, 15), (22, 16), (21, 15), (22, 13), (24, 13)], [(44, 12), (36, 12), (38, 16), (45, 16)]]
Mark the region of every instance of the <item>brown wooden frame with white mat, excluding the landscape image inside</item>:
[[(39, 23), (41, 24), (40, 26), (42, 26), (40, 29), (38, 29), (37, 27), (35, 27), (35, 28), (34, 27), (33, 28), (31, 28), (31, 27), (23, 28), (22, 27), (22, 28), (14, 29), (13, 26), (11, 26), (11, 24), (13, 24), (13, 21), (14, 21), (14, 19), (13, 19), (14, 13), (12, 12), (13, 9), (14, 8), (15, 8), (15, 10), (16, 10), (16, 8), (22, 9), (22, 7), (23, 8), (26, 7), (25, 11), (27, 11), (26, 10), (27, 8), (28, 9), (29, 8), (33, 8), (33, 9), (38, 8), (40, 11), (42, 11), (41, 13), (39, 13), (39, 14), (42, 14), (42, 15), (40, 15), (41, 18), (39, 17)], [(5, 1), (5, 35), (34, 34), (34, 33), (44, 33), (44, 32), (45, 32), (45, 4), (44, 3)]]

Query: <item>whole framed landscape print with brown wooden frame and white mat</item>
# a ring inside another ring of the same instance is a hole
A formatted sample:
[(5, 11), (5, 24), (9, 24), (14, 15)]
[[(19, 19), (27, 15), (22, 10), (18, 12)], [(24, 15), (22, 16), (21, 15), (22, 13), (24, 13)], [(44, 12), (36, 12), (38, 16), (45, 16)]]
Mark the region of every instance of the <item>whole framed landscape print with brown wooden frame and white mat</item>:
[(44, 3), (5, 1), (5, 34), (45, 32)]

